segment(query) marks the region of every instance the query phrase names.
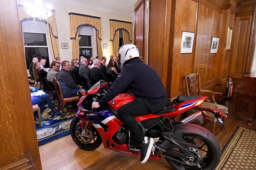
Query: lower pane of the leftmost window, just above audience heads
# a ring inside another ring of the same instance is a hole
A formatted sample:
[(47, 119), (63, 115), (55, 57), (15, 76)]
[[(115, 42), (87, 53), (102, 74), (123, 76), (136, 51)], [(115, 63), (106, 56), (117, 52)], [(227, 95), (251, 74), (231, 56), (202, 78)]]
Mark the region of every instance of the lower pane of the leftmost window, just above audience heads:
[(38, 62), (43, 58), (46, 60), (45, 68), (49, 68), (49, 54), (47, 47), (25, 47), (25, 56), (27, 69), (29, 69), (29, 65), (32, 62), (33, 57), (38, 58)]

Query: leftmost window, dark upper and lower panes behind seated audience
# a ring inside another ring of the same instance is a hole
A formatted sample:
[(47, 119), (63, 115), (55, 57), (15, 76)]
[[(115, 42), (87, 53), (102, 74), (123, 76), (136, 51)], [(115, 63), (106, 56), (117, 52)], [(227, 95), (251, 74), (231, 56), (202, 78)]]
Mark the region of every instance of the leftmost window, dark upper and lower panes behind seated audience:
[(46, 34), (24, 33), (25, 56), (27, 69), (33, 57), (37, 57), (38, 61), (42, 58), (46, 60), (45, 68), (49, 68), (49, 53), (46, 41)]

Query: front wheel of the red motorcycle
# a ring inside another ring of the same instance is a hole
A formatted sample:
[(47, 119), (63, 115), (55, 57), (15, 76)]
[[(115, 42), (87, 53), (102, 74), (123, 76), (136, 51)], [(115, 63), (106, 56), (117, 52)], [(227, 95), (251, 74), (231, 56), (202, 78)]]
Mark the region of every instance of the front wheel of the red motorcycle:
[(95, 150), (102, 143), (100, 135), (93, 125), (90, 128), (86, 128), (86, 132), (82, 132), (81, 119), (79, 117), (72, 119), (70, 134), (76, 145), (86, 151)]

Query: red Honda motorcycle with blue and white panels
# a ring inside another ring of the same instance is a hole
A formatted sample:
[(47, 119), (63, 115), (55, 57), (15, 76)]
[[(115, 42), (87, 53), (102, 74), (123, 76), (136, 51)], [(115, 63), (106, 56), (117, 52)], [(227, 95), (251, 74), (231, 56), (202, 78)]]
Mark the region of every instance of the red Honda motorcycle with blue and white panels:
[[(91, 108), (92, 102), (99, 101), (107, 91), (108, 83), (101, 80), (88, 92), (81, 92), (82, 97), (77, 104), (79, 109), (70, 125), (71, 137), (76, 145), (86, 151), (95, 150), (103, 142), (106, 149), (141, 156), (140, 149), (117, 114), (119, 107), (135, 99), (132, 93), (119, 94), (106, 106)], [(145, 136), (154, 138), (149, 158), (161, 160), (161, 156), (164, 156), (176, 169), (212, 170), (218, 165), (221, 150), (217, 139), (202, 126), (190, 123), (197, 120), (201, 112), (181, 121), (174, 119), (192, 108), (211, 112), (218, 120), (222, 116), (227, 117), (224, 110), (200, 106), (206, 98), (178, 96), (157, 113), (135, 116)], [(220, 123), (223, 125), (223, 122)]]

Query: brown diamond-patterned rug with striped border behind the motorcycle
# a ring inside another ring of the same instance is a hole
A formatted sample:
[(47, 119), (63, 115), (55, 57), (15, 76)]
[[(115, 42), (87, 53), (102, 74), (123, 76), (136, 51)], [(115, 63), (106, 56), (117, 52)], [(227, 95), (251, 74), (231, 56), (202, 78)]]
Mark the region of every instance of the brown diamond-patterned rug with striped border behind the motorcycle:
[(224, 147), (216, 169), (256, 169), (256, 131), (239, 126)]

